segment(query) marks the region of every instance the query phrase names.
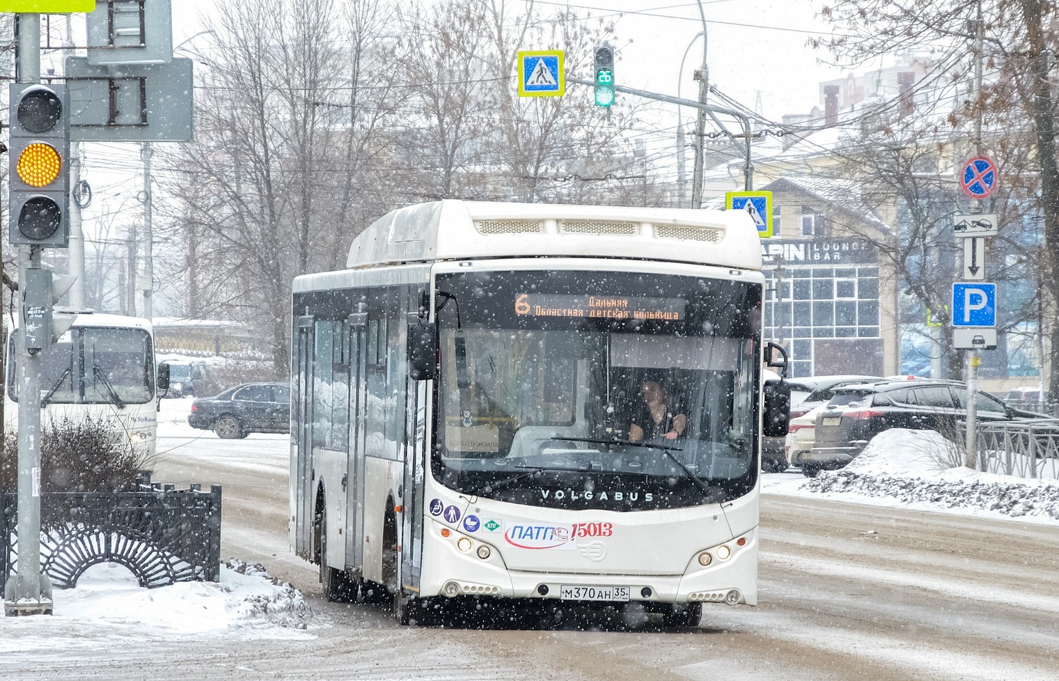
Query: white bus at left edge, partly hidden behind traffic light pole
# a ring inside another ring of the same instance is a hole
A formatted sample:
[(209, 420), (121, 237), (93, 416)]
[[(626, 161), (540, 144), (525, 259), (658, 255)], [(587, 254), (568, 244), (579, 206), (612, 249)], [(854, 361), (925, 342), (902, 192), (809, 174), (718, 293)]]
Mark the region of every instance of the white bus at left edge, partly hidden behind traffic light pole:
[[(8, 431), (18, 429), (19, 333), (16, 328), (10, 335), (6, 347), (4, 429)], [(150, 322), (78, 313), (41, 357), (41, 428), (102, 424), (112, 428), (120, 442), (131, 445), (138, 456), (145, 460), (155, 453), (158, 381)]]

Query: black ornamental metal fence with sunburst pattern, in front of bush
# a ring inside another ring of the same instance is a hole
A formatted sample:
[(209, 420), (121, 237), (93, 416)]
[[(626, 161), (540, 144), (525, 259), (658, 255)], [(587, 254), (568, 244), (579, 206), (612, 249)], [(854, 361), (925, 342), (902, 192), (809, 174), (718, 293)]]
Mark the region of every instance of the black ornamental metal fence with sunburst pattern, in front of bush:
[[(18, 495), (0, 490), (0, 584), (18, 561)], [(40, 495), (40, 569), (59, 589), (116, 562), (141, 587), (220, 578), (220, 485)]]

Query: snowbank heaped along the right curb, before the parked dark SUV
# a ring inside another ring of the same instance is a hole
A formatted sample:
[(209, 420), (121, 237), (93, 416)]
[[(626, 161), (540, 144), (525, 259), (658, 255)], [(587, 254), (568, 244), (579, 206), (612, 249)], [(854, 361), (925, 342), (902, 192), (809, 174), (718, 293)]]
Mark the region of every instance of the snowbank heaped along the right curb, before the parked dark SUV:
[(821, 471), (803, 489), (1059, 520), (1059, 481), (983, 473), (959, 458), (933, 431), (884, 431), (848, 466)]

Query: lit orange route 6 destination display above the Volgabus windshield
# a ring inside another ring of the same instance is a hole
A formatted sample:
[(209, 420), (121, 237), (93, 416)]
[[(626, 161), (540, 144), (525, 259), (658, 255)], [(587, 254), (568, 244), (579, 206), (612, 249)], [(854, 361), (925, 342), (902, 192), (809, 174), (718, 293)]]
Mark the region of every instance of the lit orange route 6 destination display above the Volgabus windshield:
[(682, 298), (636, 298), (629, 295), (569, 295), (563, 293), (519, 293), (515, 312), (524, 317), (596, 317), (679, 321), (684, 319), (687, 301)]

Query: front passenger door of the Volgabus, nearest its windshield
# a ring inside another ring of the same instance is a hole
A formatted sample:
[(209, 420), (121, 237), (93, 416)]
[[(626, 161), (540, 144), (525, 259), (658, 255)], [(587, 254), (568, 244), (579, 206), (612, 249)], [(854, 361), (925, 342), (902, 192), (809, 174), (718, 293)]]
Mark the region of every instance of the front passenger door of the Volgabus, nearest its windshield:
[[(417, 317), (409, 315), (409, 322)], [(405, 328), (407, 339), (407, 326)], [(407, 344), (406, 344), (407, 346)], [(427, 394), (432, 381), (408, 378), (405, 411), (405, 479), (401, 498), (401, 583), (409, 587), (419, 586), (419, 569), (423, 562), (423, 507), (424, 476), (426, 474), (427, 450)]]

